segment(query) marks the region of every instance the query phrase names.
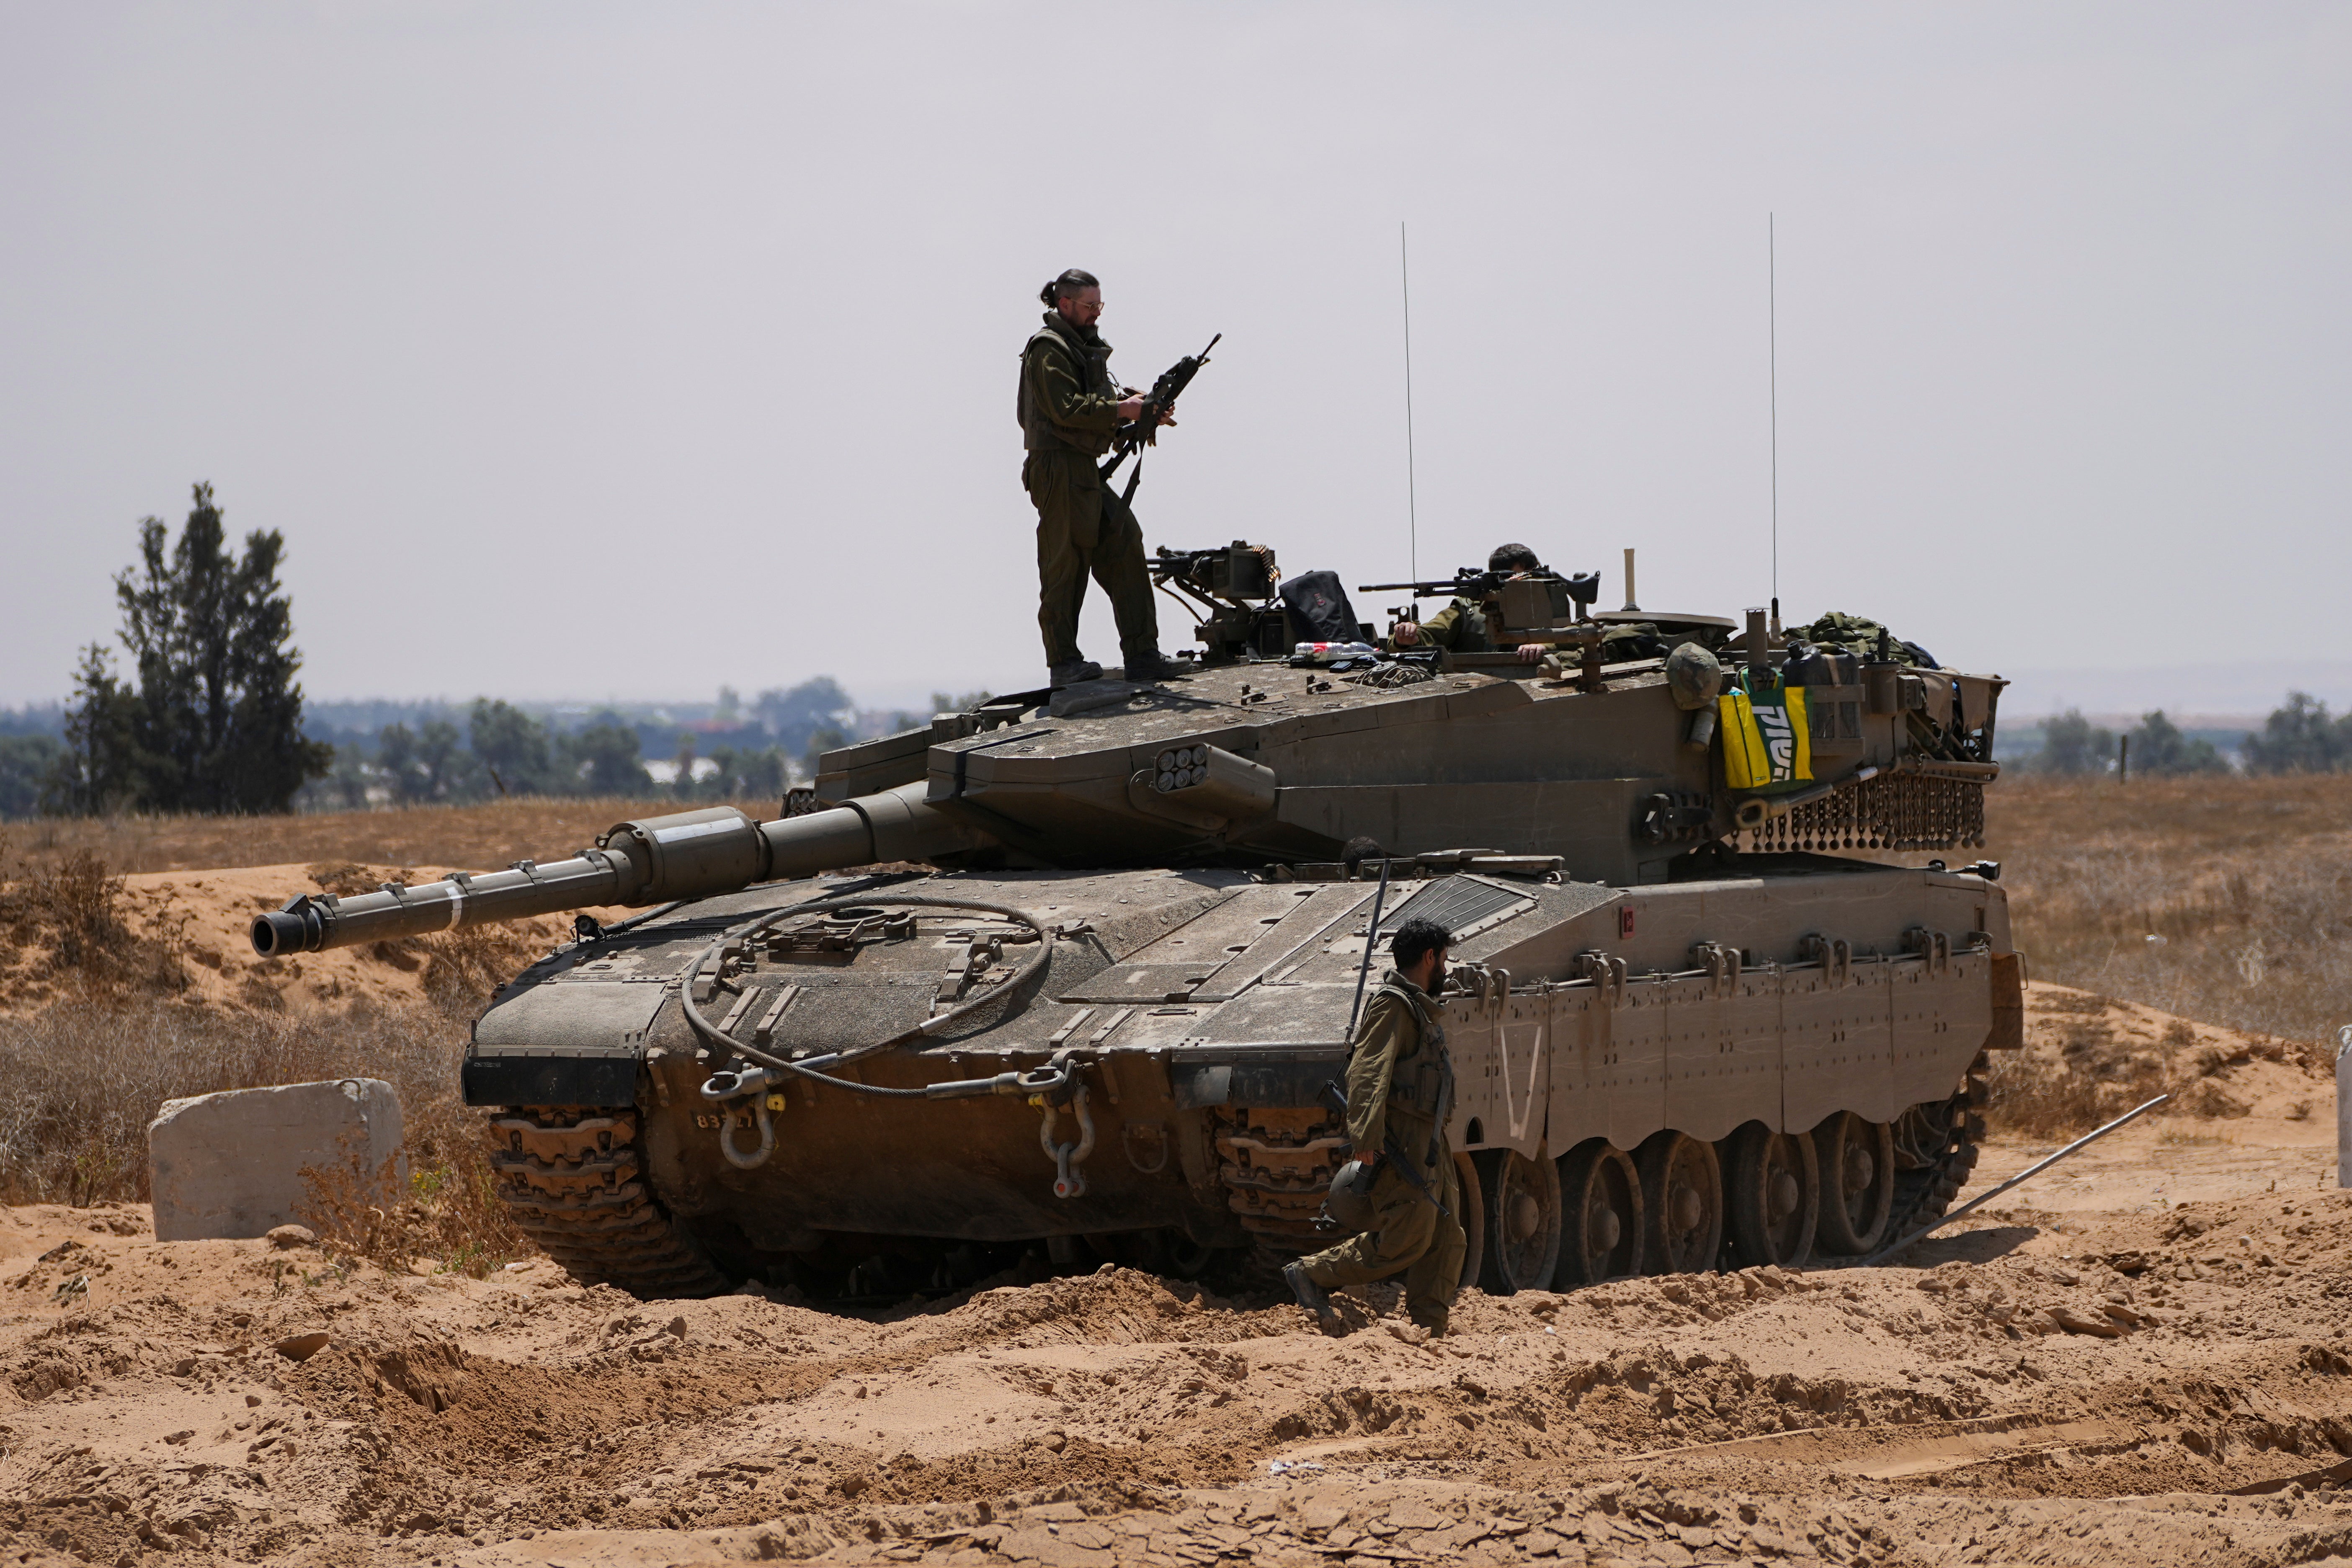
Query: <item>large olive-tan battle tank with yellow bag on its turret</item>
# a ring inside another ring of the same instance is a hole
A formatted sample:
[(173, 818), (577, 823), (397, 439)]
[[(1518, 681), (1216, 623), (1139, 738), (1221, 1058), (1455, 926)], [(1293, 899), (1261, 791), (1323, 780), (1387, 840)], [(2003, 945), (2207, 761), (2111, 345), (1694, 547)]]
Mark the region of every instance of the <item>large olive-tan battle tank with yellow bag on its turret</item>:
[(1324, 1086), (1423, 914), (1456, 938), (1468, 1281), (1853, 1258), (1943, 1213), (1985, 1051), (2023, 1039), (1997, 867), (1842, 851), (1983, 842), (1997, 677), (1630, 581), (1588, 616), (1557, 576), (1404, 585), (1484, 597), (1512, 651), (1301, 654), (1331, 625), (1272, 552), (1155, 576), (1202, 609), (1183, 679), (847, 745), (774, 820), (294, 898), (254, 947), (659, 905), (581, 917), (463, 1058), (515, 1220), (640, 1295), (1322, 1246)]

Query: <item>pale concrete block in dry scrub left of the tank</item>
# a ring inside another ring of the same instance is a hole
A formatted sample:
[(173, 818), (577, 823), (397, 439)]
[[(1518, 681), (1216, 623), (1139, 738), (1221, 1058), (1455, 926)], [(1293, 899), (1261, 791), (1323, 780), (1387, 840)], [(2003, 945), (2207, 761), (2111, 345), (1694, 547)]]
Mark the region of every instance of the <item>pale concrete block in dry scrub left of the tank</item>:
[[(383, 1079), (230, 1088), (165, 1100), (148, 1124), (158, 1241), (266, 1237), (310, 1199), (303, 1166), (400, 1159), (400, 1095)], [(407, 1173), (395, 1164), (395, 1178)]]

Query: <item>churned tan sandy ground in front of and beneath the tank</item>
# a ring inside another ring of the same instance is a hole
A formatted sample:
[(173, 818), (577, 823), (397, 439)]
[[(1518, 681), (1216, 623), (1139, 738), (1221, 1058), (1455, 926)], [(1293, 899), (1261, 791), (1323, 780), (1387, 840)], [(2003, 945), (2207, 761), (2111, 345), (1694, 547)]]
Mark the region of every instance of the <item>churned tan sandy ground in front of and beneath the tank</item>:
[(1437, 1342), (1247, 1269), (849, 1316), (0, 1211), (0, 1559), (2352, 1563), (2333, 1093), (2077, 992), (2034, 1051), (2093, 1016), (2197, 1114), (1893, 1267), (1465, 1293)]

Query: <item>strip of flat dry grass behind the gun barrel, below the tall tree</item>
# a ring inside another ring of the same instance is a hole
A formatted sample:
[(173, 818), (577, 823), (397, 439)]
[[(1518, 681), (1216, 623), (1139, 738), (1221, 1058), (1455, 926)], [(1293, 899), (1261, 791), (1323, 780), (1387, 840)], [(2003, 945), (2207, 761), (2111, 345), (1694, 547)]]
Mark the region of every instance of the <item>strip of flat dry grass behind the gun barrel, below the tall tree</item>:
[(614, 823), (687, 811), (654, 799), (501, 799), (480, 806), (402, 806), (318, 816), (94, 816), (12, 823), (16, 853), (33, 870), (75, 853), (113, 872), (193, 872), (289, 860), (369, 865), (452, 865), (501, 870), (515, 860), (560, 860)]

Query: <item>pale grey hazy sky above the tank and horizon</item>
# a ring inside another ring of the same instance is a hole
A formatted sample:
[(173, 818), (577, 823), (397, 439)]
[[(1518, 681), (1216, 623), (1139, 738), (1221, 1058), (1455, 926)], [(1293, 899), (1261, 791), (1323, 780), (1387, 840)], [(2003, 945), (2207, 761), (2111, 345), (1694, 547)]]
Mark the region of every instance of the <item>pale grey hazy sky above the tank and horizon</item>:
[(1399, 221), (1421, 571), (1738, 614), (1766, 214), (1790, 618), (2352, 675), (2347, 176), (2343, 5), (5, 2), (0, 703), (191, 480), (313, 696), (1042, 684), (1065, 266), (1148, 543), (1404, 576)]

